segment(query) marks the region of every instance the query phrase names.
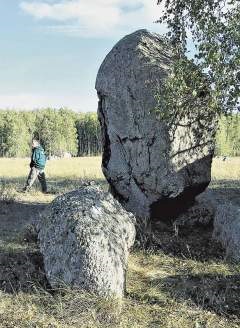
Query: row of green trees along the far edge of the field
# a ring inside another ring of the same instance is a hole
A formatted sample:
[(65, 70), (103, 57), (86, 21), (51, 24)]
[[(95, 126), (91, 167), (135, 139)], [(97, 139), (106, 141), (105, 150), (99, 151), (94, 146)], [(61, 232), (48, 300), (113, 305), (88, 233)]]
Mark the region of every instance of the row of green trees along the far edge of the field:
[[(48, 156), (95, 156), (102, 152), (96, 113), (65, 108), (0, 110), (0, 157), (28, 157), (33, 137), (41, 141)], [(215, 155), (240, 156), (239, 114), (220, 119)]]

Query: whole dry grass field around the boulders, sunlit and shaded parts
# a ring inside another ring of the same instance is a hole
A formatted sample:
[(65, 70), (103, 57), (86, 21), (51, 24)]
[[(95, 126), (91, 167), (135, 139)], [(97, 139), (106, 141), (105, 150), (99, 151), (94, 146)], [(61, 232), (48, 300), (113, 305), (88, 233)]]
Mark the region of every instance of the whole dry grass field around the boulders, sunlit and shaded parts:
[[(54, 160), (46, 171), (50, 194), (38, 185), (22, 194), (28, 162), (0, 159), (0, 327), (240, 327), (240, 265), (224, 259), (211, 229), (192, 231), (191, 238), (166, 231), (161, 248), (133, 251), (121, 303), (67, 288), (49, 290), (25, 226), (81, 180), (106, 183), (99, 157)], [(239, 180), (240, 158), (214, 160), (210, 188), (239, 204)]]

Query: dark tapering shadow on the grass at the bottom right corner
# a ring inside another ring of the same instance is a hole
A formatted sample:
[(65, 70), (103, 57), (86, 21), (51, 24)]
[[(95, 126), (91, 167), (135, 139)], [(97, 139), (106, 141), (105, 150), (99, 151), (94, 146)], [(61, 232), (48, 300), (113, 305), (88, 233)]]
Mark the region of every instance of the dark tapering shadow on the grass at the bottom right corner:
[(240, 274), (177, 275), (151, 283), (177, 301), (190, 301), (216, 314), (240, 318)]

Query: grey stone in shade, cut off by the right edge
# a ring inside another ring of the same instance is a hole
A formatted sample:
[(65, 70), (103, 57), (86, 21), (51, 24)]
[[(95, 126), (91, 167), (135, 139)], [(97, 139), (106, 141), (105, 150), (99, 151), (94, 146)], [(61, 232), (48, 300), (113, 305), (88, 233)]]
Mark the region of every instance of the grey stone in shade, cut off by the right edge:
[(213, 238), (226, 250), (226, 258), (240, 261), (240, 207), (231, 202), (218, 204)]

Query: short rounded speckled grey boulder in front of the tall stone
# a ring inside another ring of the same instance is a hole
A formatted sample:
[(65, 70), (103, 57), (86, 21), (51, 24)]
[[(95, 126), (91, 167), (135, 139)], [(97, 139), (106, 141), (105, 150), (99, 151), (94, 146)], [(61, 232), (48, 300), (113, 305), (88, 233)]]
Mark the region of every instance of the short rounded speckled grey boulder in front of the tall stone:
[(38, 224), (40, 250), (52, 287), (78, 286), (121, 297), (135, 219), (99, 186), (62, 195)]

